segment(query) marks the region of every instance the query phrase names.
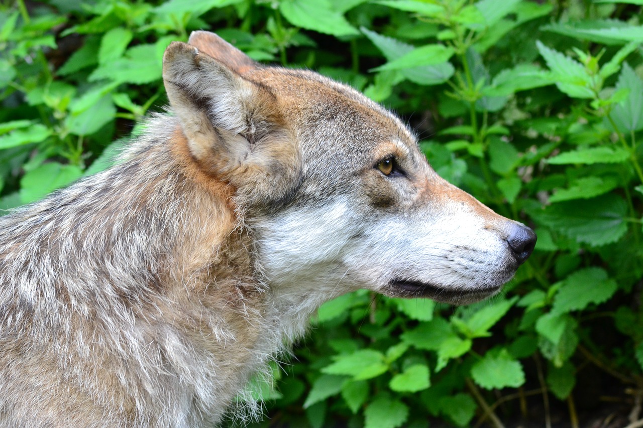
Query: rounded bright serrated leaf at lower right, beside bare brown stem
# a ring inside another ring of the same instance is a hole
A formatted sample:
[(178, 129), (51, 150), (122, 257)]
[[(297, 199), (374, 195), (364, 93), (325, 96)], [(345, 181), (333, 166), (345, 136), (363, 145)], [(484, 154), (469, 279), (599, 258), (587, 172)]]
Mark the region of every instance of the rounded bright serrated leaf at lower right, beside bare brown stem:
[(525, 383), (525, 372), (519, 361), (507, 350), (487, 352), (471, 366), (471, 377), (485, 389), (518, 388)]

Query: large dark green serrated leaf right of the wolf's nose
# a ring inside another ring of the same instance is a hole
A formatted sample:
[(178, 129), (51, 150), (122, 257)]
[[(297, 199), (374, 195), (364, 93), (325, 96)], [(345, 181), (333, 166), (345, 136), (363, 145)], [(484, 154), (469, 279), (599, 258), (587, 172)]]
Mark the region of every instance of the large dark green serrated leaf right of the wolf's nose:
[(557, 202), (543, 212), (532, 212), (541, 223), (576, 242), (595, 246), (619, 240), (628, 229), (627, 214), (627, 202), (614, 193), (592, 199)]

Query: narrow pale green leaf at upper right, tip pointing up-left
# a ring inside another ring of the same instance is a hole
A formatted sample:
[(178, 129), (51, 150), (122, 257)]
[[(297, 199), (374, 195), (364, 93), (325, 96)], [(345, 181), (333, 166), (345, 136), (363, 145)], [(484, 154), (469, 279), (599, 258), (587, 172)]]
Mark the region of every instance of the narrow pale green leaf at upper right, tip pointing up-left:
[(595, 97), (592, 77), (588, 75), (583, 64), (554, 49), (547, 48), (539, 40), (536, 41), (536, 46), (552, 71), (550, 76), (552, 83), (555, 83), (561, 92), (572, 98)]

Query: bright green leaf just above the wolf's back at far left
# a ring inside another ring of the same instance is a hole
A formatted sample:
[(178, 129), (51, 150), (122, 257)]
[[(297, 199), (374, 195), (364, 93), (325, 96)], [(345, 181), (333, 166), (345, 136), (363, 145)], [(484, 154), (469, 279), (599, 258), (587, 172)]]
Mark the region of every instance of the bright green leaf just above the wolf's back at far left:
[(44, 163), (24, 174), (20, 181), (20, 199), (23, 204), (37, 201), (53, 190), (76, 181), (81, 175), (82, 170), (76, 165)]

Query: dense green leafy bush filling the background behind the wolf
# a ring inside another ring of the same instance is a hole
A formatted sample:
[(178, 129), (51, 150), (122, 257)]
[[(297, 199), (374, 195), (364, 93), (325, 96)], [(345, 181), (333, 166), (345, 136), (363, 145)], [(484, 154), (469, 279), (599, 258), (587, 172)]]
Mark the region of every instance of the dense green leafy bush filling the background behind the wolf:
[(119, 139), (167, 102), (170, 40), (217, 31), (256, 60), (317, 69), (390, 106), (439, 174), (539, 236), (490, 301), (453, 308), (359, 291), (323, 305), (295, 362), (275, 368), (276, 389), (264, 388), (272, 419), (262, 424), (550, 425), (558, 412), (579, 426), (590, 416), (577, 409), (596, 409), (601, 395), (630, 406), (634, 422), (643, 395), (638, 4), (3, 5), (0, 204), (105, 168)]

